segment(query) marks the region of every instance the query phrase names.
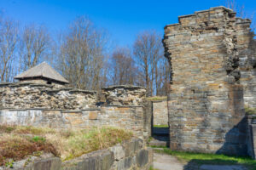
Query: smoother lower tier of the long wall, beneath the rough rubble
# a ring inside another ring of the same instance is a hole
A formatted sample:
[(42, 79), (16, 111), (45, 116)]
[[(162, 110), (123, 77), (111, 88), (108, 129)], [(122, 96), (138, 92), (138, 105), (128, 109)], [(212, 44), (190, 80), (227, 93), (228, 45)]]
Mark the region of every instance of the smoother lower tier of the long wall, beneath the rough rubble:
[(102, 105), (101, 108), (81, 111), (66, 110), (1, 110), (0, 124), (54, 128), (122, 127), (137, 136), (148, 137), (144, 127), (143, 106)]

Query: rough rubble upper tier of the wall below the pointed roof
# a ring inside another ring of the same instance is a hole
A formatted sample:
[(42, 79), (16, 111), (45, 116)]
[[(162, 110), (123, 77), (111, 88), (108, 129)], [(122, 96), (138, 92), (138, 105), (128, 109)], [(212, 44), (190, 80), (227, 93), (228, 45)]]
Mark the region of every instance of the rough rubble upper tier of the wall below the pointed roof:
[(0, 83), (0, 109), (85, 109), (95, 107), (96, 92), (38, 83)]

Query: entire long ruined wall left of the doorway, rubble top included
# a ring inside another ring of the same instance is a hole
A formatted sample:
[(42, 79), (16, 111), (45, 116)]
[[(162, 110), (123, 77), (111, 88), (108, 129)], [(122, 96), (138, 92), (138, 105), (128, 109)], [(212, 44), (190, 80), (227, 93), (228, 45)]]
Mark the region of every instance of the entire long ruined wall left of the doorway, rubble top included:
[[(119, 105), (113, 102), (96, 105), (97, 95), (93, 91), (56, 89), (37, 83), (2, 83), (0, 124), (54, 128), (114, 126), (148, 138), (151, 112), (147, 103), (143, 103), (145, 88), (117, 86), (107, 89), (103, 89), (105, 100), (116, 98)], [(122, 96), (117, 91), (121, 91)]]

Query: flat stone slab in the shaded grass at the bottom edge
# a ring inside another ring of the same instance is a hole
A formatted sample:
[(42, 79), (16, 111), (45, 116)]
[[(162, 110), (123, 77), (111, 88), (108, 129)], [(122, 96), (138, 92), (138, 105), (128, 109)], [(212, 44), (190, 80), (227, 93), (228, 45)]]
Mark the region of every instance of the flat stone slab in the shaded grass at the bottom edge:
[(201, 165), (200, 170), (247, 170), (241, 165)]

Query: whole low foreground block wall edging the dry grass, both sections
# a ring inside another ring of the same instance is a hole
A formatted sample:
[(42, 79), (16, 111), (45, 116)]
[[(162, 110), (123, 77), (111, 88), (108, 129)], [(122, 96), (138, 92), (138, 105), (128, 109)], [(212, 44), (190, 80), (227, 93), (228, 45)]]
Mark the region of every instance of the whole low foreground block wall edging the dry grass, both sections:
[[(22, 163), (23, 162), (23, 163)], [(27, 165), (26, 165), (27, 164)], [(13, 169), (37, 170), (80, 170), (80, 169), (142, 169), (148, 170), (153, 164), (153, 150), (143, 144), (142, 139), (133, 138), (116, 144), (107, 150), (97, 150), (71, 161), (61, 162), (58, 157), (41, 160), (22, 160), (14, 163)], [(0, 167), (1, 169), (1, 167)], [(4, 169), (4, 167), (2, 168)]]

